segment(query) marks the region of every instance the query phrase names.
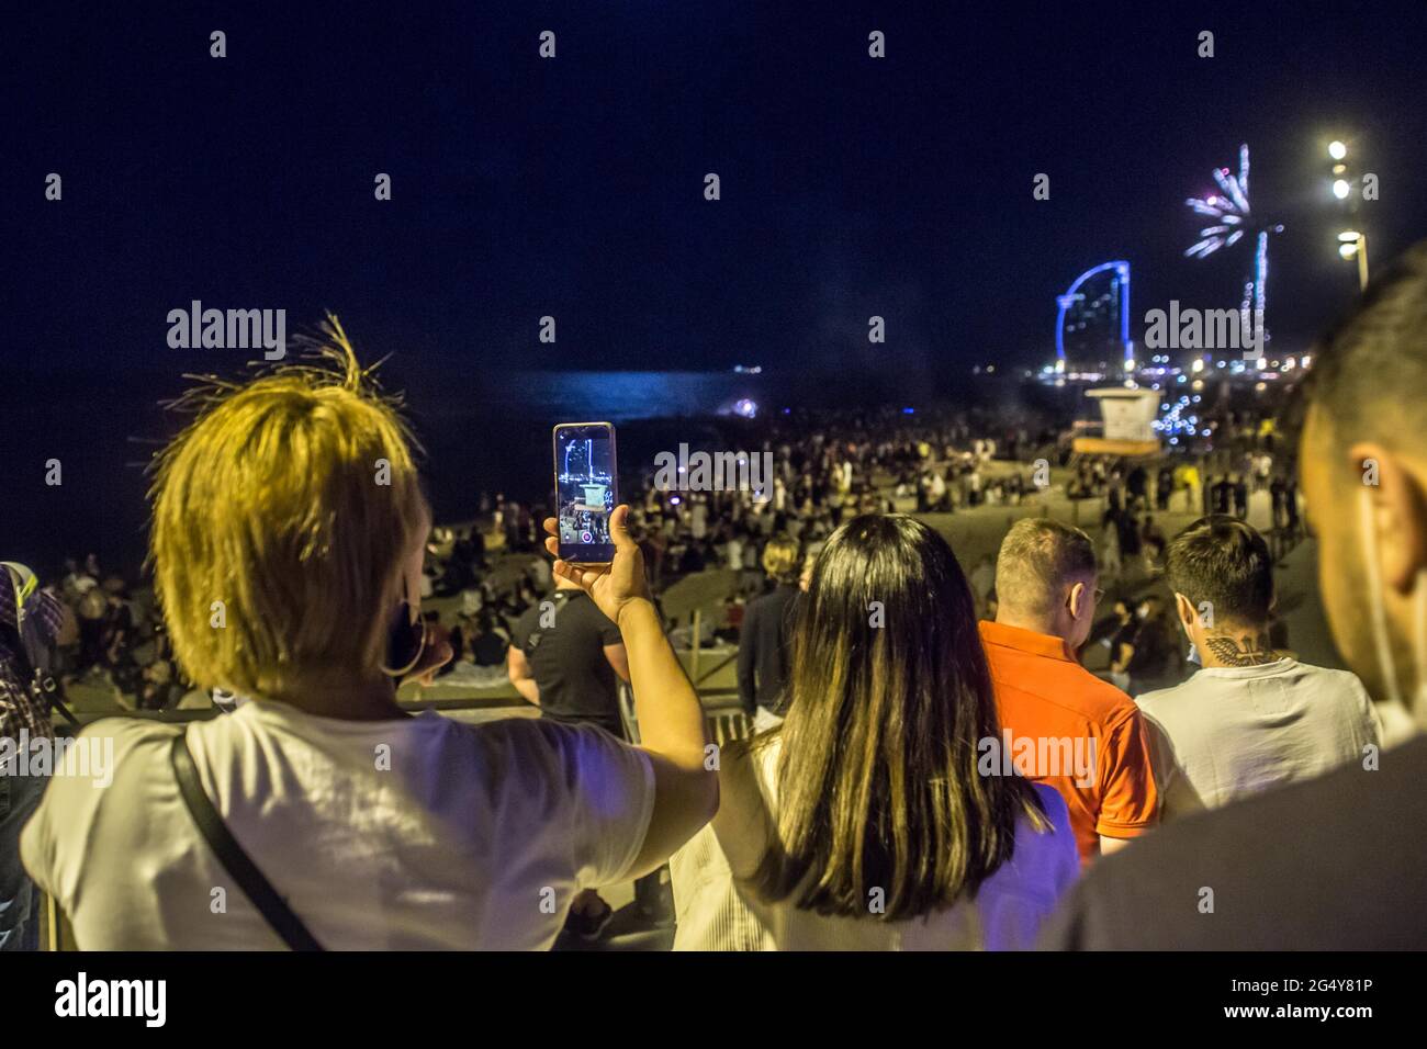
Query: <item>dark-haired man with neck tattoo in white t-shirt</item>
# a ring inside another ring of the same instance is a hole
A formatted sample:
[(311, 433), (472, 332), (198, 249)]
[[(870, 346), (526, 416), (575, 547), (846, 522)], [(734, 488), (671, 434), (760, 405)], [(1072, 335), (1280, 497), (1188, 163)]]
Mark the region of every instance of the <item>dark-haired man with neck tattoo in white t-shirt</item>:
[(1273, 559), (1254, 528), (1222, 514), (1196, 521), (1170, 542), (1166, 577), (1203, 669), (1136, 701), (1162, 821), (1319, 776), (1378, 745), (1356, 675), (1273, 651)]

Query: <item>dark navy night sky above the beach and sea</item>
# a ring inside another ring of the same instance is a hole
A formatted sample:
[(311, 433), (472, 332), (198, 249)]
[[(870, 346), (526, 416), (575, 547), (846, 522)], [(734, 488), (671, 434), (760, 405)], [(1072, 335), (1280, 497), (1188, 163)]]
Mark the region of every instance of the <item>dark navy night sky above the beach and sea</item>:
[(1281, 350), (1356, 290), (1330, 138), (1380, 177), (1351, 223), (1374, 263), (1427, 233), (1420, 3), (250, 7), (6, 16), (0, 532), (34, 458), (80, 448), (108, 398), (251, 355), (168, 348), (166, 314), (194, 298), (285, 308), (290, 330), (332, 308), (414, 400), (489, 367), (878, 368), (949, 390), (976, 363), (1049, 360), (1055, 295), (1109, 258), (1133, 267), (1134, 337), (1170, 298), (1236, 305), (1249, 244), (1183, 258), (1183, 201), (1240, 141), (1256, 210), (1287, 227)]

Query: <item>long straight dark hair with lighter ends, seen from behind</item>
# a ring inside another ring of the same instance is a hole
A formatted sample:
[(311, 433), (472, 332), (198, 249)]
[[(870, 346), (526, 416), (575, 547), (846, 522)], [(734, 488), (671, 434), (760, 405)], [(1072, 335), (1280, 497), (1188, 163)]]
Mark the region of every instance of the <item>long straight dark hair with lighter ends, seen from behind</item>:
[[(1030, 784), (977, 774), (996, 699), (966, 577), (905, 515), (838, 528), (793, 632), (776, 829), (752, 888), (823, 915), (895, 921), (949, 906), (1047, 822)], [(771, 828), (772, 829), (772, 828)]]

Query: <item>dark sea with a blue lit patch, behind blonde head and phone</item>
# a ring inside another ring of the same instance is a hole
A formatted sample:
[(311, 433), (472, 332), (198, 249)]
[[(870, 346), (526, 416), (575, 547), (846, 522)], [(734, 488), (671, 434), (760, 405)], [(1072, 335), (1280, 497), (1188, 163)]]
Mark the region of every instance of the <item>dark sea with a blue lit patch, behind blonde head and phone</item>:
[[(106, 571), (134, 578), (147, 545), (148, 465), (186, 421), (164, 402), (187, 384), (178, 374), (66, 374), (11, 390), (20, 425), (3, 458), (0, 559), (53, 578), (64, 557), (94, 552)], [(769, 414), (902, 395), (888, 385), (732, 370), (465, 373), (455, 363), (387, 375), (422, 445), (437, 521), (471, 520), (482, 492), (548, 502), (557, 422), (614, 422), (621, 475), (638, 477), (681, 441), (752, 442)], [(53, 462), (57, 485), (44, 482)]]

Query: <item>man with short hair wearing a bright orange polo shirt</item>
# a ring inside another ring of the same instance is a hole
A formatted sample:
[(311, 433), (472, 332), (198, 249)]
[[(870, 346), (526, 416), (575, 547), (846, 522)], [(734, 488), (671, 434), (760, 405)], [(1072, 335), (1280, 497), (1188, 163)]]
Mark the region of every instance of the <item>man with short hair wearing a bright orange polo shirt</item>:
[(980, 624), (1002, 725), (1002, 739), (982, 741), (982, 772), (1013, 766), (1059, 791), (1082, 865), (1154, 826), (1159, 806), (1139, 708), (1076, 661), (1095, 584), (1085, 532), (1017, 521), (996, 558), (996, 622)]

